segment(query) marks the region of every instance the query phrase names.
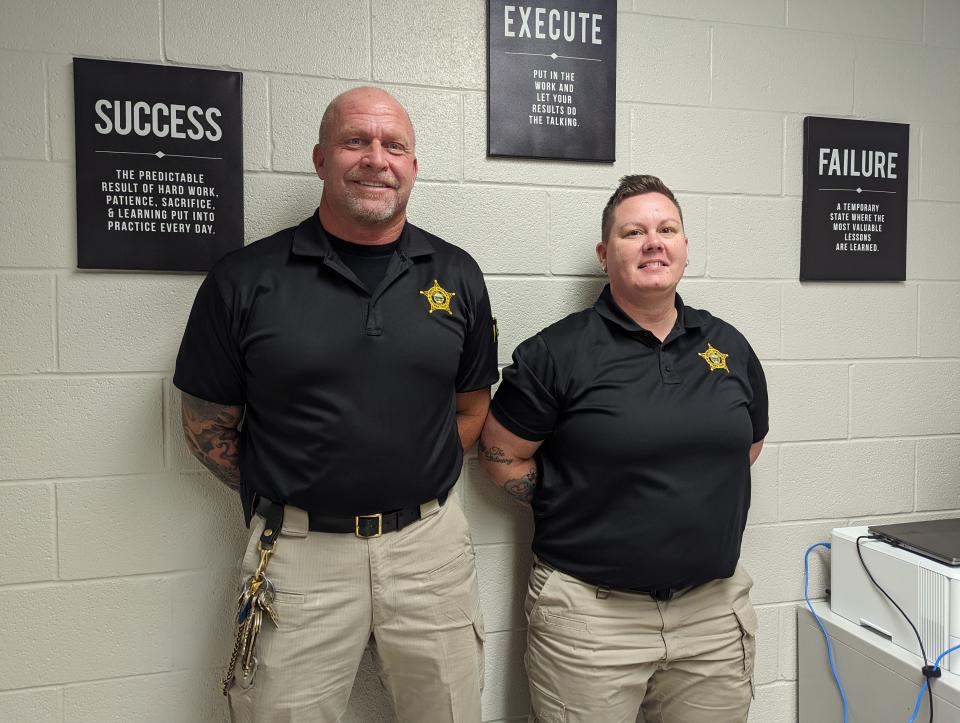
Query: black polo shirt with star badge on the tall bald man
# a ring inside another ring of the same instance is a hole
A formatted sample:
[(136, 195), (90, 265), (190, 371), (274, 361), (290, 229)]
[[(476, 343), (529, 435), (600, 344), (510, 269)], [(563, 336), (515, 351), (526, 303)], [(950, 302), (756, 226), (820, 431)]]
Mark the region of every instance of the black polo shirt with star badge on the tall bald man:
[(417, 505), (449, 490), (463, 450), (455, 393), (497, 380), (483, 276), (407, 224), (369, 292), (316, 214), (228, 254), (197, 293), (174, 384), (245, 405), (252, 494), (326, 515)]

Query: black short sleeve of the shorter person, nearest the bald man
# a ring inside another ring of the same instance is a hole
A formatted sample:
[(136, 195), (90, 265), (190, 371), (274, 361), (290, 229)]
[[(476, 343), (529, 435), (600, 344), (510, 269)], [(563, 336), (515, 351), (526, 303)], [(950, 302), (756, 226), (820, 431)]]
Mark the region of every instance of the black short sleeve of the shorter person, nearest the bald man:
[(553, 355), (539, 334), (513, 353), (490, 411), (504, 427), (526, 440), (539, 442), (554, 430), (560, 411), (556, 396), (557, 370)]

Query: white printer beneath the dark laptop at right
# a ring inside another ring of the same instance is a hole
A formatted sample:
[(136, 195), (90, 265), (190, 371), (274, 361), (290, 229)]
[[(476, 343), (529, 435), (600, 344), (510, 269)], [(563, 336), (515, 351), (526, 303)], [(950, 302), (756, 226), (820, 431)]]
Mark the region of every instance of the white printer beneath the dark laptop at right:
[[(919, 656), (907, 621), (870, 582), (857, 557), (856, 540), (867, 534), (866, 527), (833, 530), (830, 607)], [(960, 568), (877, 539), (861, 540), (860, 552), (873, 578), (916, 625), (930, 664), (960, 644)], [(940, 666), (960, 673), (960, 650), (946, 656)]]

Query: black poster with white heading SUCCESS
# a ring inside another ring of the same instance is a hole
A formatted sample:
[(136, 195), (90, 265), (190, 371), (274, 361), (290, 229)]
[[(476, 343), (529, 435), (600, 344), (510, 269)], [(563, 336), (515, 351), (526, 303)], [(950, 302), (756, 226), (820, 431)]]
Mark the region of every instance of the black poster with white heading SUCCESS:
[(243, 76), (73, 60), (77, 265), (206, 271), (243, 245)]

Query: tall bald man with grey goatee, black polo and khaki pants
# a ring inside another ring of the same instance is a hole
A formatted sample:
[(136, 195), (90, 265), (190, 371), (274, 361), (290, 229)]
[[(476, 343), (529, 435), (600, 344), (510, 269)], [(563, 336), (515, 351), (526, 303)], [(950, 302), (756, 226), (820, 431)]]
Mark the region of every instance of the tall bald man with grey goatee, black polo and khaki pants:
[(241, 583), (274, 545), (277, 620), (230, 710), (339, 721), (373, 642), (401, 721), (479, 721), (483, 620), (448, 497), (497, 379), (483, 276), (407, 221), (414, 131), (385, 91), (333, 99), (313, 164), (316, 213), (217, 262), (174, 377), (188, 446), (251, 527)]

